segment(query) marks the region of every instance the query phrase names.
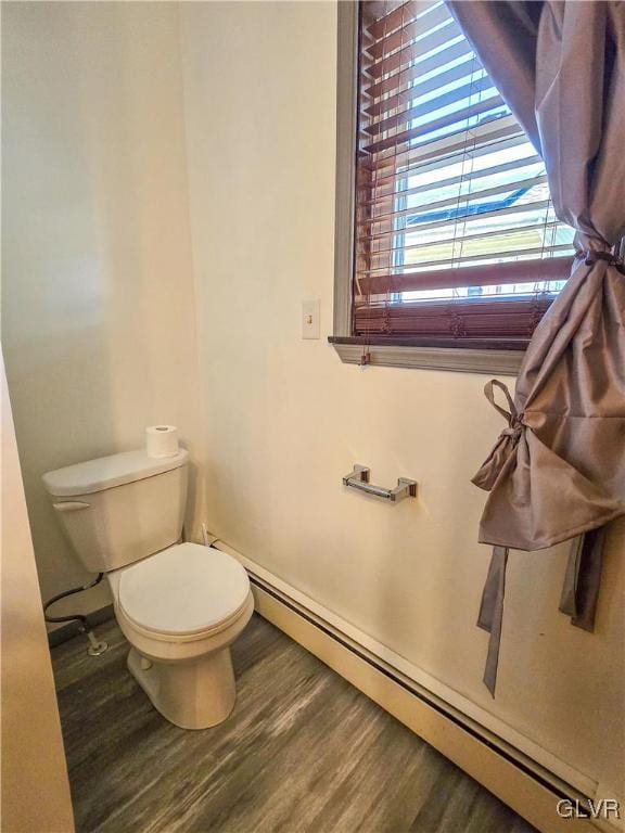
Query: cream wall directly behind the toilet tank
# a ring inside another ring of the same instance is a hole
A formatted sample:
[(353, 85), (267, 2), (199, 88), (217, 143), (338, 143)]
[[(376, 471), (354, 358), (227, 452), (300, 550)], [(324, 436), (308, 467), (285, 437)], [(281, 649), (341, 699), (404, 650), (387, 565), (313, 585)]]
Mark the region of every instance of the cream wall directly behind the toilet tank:
[(3, 350), (43, 597), (86, 579), (43, 472), (157, 422), (199, 457), (177, 27), (169, 3), (2, 4)]

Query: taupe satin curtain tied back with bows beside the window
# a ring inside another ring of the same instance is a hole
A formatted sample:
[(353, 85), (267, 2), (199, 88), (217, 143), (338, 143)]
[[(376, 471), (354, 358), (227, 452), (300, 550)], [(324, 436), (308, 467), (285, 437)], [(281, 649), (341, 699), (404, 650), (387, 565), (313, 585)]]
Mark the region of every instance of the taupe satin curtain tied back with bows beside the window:
[(473, 480), (489, 491), (480, 540), (495, 544), (477, 621), (490, 632), (484, 681), (494, 694), (508, 548), (573, 539), (561, 610), (591, 630), (601, 528), (625, 514), (625, 275), (615, 255), (625, 233), (625, 3), (448, 5), (543, 155), (556, 214), (577, 232), (573, 271), (534, 333), (514, 398), (501, 383), (486, 386), (508, 422)]

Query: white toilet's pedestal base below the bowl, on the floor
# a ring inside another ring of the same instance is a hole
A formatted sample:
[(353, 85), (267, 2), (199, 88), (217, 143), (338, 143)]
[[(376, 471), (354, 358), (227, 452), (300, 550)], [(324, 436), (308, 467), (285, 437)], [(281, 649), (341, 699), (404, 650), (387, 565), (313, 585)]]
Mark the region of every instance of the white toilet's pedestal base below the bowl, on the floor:
[(128, 670), (154, 708), (181, 729), (217, 726), (234, 708), (237, 690), (229, 646), (181, 663), (142, 662), (141, 654), (131, 648)]

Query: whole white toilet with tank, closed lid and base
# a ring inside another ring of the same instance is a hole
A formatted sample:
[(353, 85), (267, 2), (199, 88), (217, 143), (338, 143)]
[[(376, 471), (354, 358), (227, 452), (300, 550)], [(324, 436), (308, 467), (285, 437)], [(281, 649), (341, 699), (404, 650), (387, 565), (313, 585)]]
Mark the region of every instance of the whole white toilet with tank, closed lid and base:
[(80, 562), (105, 573), (131, 645), (130, 674), (183, 729), (234, 707), (230, 645), (254, 610), (245, 569), (225, 552), (181, 543), (189, 454), (126, 451), (43, 475)]

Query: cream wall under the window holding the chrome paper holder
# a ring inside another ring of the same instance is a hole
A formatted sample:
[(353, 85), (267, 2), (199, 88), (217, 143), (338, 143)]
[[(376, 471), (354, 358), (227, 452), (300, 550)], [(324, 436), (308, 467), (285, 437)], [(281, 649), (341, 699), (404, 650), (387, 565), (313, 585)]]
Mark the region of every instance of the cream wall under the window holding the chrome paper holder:
[[(558, 613), (564, 548), (512, 554), (490, 701), (475, 627), (484, 495), (469, 483), (502, 427), (485, 379), (360, 370), (301, 339), (305, 298), (321, 298), (331, 332), (335, 17), (323, 2), (181, 7), (209, 528), (615, 787), (623, 526), (594, 636)], [(383, 485), (414, 477), (419, 502), (346, 494), (355, 462)]]

